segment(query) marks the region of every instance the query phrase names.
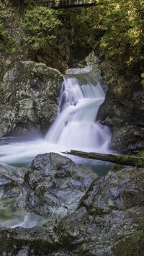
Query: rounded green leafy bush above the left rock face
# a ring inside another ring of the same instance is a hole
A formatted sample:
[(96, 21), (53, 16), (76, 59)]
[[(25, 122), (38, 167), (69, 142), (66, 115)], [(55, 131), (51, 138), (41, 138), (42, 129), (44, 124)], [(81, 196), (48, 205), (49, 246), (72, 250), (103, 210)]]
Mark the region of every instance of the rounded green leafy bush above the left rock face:
[(48, 45), (55, 45), (56, 30), (60, 25), (53, 9), (45, 6), (27, 9), (22, 19), (24, 42), (35, 52), (48, 48)]

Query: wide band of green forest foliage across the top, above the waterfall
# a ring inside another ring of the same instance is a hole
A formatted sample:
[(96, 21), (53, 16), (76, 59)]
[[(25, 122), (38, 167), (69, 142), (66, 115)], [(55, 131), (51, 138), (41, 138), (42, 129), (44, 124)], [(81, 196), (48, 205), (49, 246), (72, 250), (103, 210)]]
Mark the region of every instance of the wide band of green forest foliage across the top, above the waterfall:
[(89, 8), (55, 12), (38, 0), (1, 0), (0, 48), (17, 48), (14, 33), (9, 32), (10, 19), (14, 19), (14, 12), (17, 12), (21, 33), (24, 34), (20, 47), (28, 48), (31, 56), (40, 54), (41, 48), (42, 54), (46, 54), (48, 45), (58, 51), (61, 49), (58, 42), (68, 40), (70, 52), (78, 46), (90, 48), (102, 59), (113, 62), (120, 73), (128, 69), (143, 74), (143, 0), (96, 2), (96, 6)]

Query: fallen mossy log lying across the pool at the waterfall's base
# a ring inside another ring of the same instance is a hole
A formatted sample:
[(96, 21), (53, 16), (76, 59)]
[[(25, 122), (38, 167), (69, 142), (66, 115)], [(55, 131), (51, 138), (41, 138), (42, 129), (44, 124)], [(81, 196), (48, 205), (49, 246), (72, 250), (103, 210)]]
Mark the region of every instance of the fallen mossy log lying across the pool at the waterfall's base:
[(79, 156), (88, 159), (96, 159), (105, 162), (112, 162), (115, 164), (129, 165), (133, 167), (144, 167), (144, 158), (140, 156), (129, 156), (129, 155), (119, 155), (119, 154), (100, 154), (93, 152), (84, 152), (71, 150), (70, 152), (62, 152), (63, 154), (70, 154), (73, 156)]

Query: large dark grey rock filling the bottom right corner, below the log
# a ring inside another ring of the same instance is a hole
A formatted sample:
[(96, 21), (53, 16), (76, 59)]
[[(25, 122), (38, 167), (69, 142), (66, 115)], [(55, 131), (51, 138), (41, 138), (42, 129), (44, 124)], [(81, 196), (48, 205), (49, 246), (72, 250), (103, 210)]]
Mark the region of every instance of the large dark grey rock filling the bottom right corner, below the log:
[(143, 255), (144, 169), (126, 167), (94, 180), (58, 226), (75, 255)]

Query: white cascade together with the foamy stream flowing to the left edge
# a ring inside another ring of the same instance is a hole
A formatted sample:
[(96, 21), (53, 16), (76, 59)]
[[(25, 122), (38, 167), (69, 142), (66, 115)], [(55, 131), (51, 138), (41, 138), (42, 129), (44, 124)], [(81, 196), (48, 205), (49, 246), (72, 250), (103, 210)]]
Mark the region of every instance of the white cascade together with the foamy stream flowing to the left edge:
[(111, 134), (106, 126), (96, 121), (103, 101), (104, 91), (98, 82), (93, 85), (85, 81), (80, 85), (78, 79), (65, 76), (59, 101), (60, 113), (45, 138), (1, 145), (0, 162), (30, 162), (37, 154), (71, 149), (108, 153)]

